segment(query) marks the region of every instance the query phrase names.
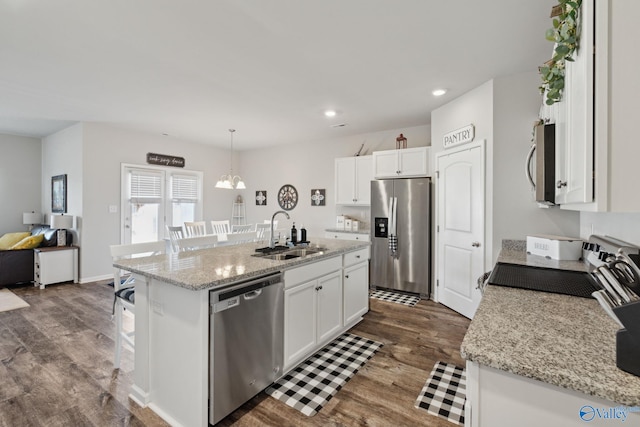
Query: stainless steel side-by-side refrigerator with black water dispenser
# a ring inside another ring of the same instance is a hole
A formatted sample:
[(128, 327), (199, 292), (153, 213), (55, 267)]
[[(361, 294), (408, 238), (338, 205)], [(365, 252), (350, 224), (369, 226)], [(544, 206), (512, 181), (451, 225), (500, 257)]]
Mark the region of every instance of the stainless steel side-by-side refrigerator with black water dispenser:
[(431, 178), (371, 181), (370, 284), (429, 296)]

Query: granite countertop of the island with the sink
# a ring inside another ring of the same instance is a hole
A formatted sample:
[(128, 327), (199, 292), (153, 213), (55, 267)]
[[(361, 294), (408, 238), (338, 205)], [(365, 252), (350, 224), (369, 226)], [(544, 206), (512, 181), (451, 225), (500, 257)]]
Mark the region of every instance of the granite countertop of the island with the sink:
[(323, 251), (304, 258), (277, 261), (252, 256), (256, 253), (257, 248), (264, 247), (264, 242), (247, 243), (122, 259), (113, 265), (176, 286), (200, 291), (219, 288), (268, 273), (284, 271), (301, 264), (316, 262), (369, 245), (369, 242), (362, 241), (318, 238), (313, 239), (310, 247), (325, 248)]

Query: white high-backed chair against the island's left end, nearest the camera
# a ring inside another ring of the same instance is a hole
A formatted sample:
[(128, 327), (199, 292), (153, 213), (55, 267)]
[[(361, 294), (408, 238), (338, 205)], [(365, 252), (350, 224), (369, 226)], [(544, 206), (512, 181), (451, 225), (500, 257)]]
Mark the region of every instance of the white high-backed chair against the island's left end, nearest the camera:
[[(166, 251), (166, 244), (163, 241), (133, 243), (129, 245), (111, 245), (109, 247), (112, 260), (118, 261), (123, 258), (133, 258), (135, 256), (158, 255)], [(113, 367), (120, 368), (120, 358), (122, 345), (127, 344), (132, 350), (135, 349), (135, 329), (126, 331), (123, 325), (124, 312), (135, 314), (135, 288), (134, 278), (126, 270), (113, 267), (113, 316), (116, 321), (116, 347)]]

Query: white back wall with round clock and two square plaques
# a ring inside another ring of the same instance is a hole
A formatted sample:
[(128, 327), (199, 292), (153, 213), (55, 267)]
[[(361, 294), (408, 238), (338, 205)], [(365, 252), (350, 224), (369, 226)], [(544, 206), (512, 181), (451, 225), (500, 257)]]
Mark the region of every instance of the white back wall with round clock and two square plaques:
[[(322, 236), (326, 228), (335, 227), (336, 213), (349, 214), (368, 222), (369, 207), (335, 205), (334, 159), (353, 156), (363, 143), (362, 154), (395, 149), (396, 137), (400, 133), (407, 138), (409, 147), (430, 143), (430, 127), (416, 126), (242, 152), (241, 173), (247, 184), (242, 195), (247, 207), (247, 222), (262, 222), (280, 210), (277, 192), (284, 184), (293, 185), (300, 200), (289, 212), (291, 221), (278, 216), (281, 229), (291, 228), (291, 222), (295, 221), (296, 228), (304, 225), (307, 236), (313, 238)], [(311, 190), (322, 188), (326, 190), (325, 206), (312, 206)], [(267, 191), (267, 206), (256, 206), (255, 193), (259, 190)]]

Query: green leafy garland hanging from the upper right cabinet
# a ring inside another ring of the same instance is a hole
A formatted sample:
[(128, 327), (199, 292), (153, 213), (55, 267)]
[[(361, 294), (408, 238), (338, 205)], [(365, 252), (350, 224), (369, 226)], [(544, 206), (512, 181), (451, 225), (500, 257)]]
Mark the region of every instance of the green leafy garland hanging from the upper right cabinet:
[(556, 44), (551, 60), (539, 68), (542, 77), (540, 92), (546, 93), (547, 105), (562, 99), (565, 61), (573, 62), (572, 56), (580, 41), (578, 31), (580, 6), (582, 6), (582, 0), (559, 0), (556, 7), (561, 12), (553, 19), (553, 28), (547, 30), (547, 40)]

